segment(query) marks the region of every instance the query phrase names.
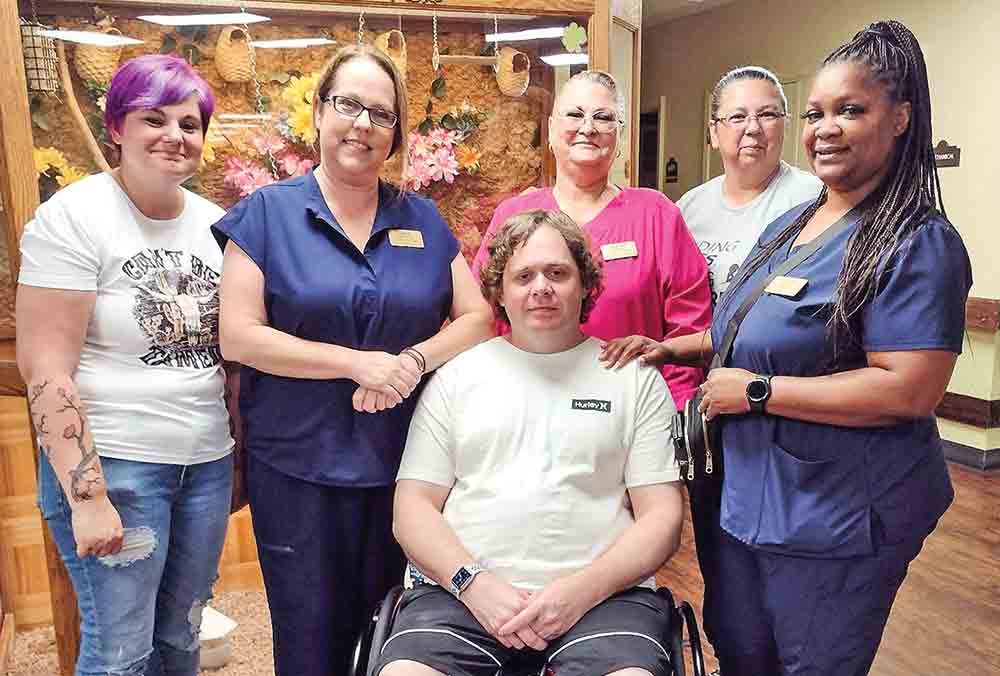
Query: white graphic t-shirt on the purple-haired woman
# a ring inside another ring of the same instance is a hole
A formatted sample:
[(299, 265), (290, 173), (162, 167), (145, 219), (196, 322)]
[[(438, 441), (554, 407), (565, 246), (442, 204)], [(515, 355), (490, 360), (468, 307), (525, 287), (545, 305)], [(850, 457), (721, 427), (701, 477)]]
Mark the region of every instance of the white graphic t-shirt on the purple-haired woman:
[(152, 220), (96, 174), (25, 227), (21, 284), (97, 292), (74, 380), (101, 456), (188, 465), (232, 450), (211, 232), (224, 213), (185, 190), (180, 216)]

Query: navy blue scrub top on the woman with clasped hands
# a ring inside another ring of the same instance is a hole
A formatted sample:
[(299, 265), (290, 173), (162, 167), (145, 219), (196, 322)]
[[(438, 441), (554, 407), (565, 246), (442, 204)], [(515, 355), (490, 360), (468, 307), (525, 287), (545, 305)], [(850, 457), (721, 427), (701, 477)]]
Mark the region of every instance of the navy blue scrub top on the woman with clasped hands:
[[(423, 248), (394, 246), (419, 230)], [(309, 174), (260, 188), (214, 226), (264, 275), (268, 324), (305, 340), (397, 354), (440, 331), (452, 304), (458, 242), (434, 203), (381, 184), (362, 253)], [(254, 458), (305, 481), (392, 485), (419, 390), (381, 413), (357, 413), (349, 379), (286, 378), (244, 366), (240, 412)]]

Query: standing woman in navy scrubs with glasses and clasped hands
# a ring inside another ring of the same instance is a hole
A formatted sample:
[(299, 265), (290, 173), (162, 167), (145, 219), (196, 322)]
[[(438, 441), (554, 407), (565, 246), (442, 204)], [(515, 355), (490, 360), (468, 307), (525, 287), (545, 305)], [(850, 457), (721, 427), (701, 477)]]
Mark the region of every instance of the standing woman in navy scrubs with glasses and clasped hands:
[(347, 672), (367, 612), (403, 576), (393, 486), (421, 379), (492, 321), (434, 203), (379, 178), (407, 154), (389, 58), (343, 48), (313, 108), (315, 171), (261, 188), (215, 226), (228, 239), (221, 344), (244, 365), (277, 676)]

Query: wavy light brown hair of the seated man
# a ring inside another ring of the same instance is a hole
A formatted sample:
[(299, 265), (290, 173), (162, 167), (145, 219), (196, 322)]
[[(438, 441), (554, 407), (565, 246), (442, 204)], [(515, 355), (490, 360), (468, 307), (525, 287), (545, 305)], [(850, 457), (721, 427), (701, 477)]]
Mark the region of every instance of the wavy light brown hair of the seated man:
[(580, 283), (583, 285), (583, 304), (580, 306), (580, 323), (587, 321), (590, 311), (594, 309), (597, 298), (603, 291), (603, 271), (600, 261), (594, 258), (590, 251), (590, 238), (573, 219), (561, 211), (544, 211), (534, 209), (511, 216), (500, 226), (493, 241), (490, 242), (490, 257), (479, 273), (483, 295), (493, 306), (493, 313), (510, 323), (507, 311), (500, 304), (503, 297), (503, 272), (507, 269), (514, 252), (524, 246), (524, 243), (540, 228), (549, 227), (562, 235), (569, 249), (573, 262), (580, 273)]

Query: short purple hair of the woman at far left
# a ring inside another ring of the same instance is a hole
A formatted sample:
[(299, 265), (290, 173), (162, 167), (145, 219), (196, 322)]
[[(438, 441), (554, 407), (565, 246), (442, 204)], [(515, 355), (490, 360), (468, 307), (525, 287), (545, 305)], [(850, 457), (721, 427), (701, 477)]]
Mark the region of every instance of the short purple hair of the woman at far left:
[(147, 54), (126, 61), (115, 71), (104, 106), (104, 126), (121, 130), (125, 115), (133, 110), (149, 110), (180, 103), (194, 94), (201, 111), (201, 129), (215, 110), (212, 88), (187, 61), (166, 54)]

